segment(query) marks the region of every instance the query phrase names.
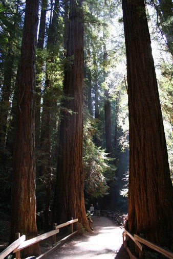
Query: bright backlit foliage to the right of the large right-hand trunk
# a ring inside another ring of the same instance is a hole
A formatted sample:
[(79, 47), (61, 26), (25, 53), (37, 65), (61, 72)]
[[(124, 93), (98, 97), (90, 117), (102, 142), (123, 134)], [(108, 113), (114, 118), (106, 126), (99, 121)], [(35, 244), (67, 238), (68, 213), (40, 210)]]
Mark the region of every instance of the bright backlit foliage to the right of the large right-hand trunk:
[[(160, 103), (162, 108), (162, 117), (164, 124), (164, 131), (167, 143), (168, 160), (170, 174), (173, 183), (173, 115), (172, 115), (172, 102), (173, 102), (173, 89), (172, 89), (172, 16), (171, 1), (170, 4), (164, 4), (164, 1), (150, 1), (151, 6), (148, 6), (148, 25), (150, 30), (150, 37), (152, 39), (152, 51), (156, 68), (156, 75), (158, 81), (158, 89), (160, 96)], [(164, 27), (165, 25), (165, 27)], [(158, 30), (159, 29), (159, 30)], [(166, 33), (168, 31), (168, 33)], [(167, 43), (169, 43), (167, 45)]]

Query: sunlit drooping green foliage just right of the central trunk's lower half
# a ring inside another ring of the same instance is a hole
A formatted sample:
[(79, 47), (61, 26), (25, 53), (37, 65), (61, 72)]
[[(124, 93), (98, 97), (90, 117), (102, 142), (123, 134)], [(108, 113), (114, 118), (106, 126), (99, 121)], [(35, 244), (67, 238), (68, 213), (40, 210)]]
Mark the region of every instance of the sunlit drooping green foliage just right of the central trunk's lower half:
[(94, 144), (93, 136), (97, 131), (96, 121), (86, 118), (83, 133), (84, 190), (95, 198), (108, 194), (106, 174), (111, 171), (105, 151)]

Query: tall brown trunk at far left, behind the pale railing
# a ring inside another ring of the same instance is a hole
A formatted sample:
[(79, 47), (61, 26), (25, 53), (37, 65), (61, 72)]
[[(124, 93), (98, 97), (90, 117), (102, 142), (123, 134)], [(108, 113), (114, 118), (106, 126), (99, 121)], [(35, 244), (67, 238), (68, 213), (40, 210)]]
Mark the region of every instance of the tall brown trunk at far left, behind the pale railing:
[[(11, 238), (15, 233), (37, 236), (35, 200), (35, 49), (39, 1), (26, 0), (21, 60), (18, 80), (14, 179), (12, 187)], [(23, 255), (39, 254), (39, 244), (23, 250)]]

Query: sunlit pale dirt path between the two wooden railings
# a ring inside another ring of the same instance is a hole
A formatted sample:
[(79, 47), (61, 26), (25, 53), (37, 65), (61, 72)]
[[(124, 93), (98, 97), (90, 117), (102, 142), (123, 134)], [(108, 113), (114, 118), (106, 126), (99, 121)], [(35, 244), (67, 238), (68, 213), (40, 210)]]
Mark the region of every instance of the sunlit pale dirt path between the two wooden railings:
[(75, 236), (48, 258), (128, 259), (122, 245), (122, 229), (111, 219), (93, 216), (93, 233)]

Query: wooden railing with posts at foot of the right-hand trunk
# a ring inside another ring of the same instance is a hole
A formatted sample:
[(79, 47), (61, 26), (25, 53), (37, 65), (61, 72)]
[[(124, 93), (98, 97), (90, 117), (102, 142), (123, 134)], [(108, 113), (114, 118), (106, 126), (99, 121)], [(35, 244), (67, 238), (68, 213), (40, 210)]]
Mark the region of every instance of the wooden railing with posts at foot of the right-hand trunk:
[[(124, 236), (125, 236), (125, 240), (124, 240)], [(173, 259), (173, 253), (170, 252), (169, 250), (166, 250), (163, 247), (161, 247), (161, 246), (159, 246), (159, 245), (157, 245), (153, 242), (150, 242), (150, 241), (148, 241), (148, 240), (144, 239), (143, 237), (140, 237), (136, 234), (134, 234), (134, 236), (133, 236), (129, 231), (124, 229), (123, 244), (124, 244), (124, 247), (127, 250), (131, 259), (137, 259), (137, 257), (135, 255), (133, 255), (132, 252), (130, 251), (130, 249), (128, 248), (128, 246), (127, 246), (128, 238), (127, 237), (131, 238), (135, 242), (135, 244), (138, 246), (138, 248), (139, 248), (139, 258), (144, 257), (144, 245), (145, 245), (145, 246), (147, 246), (149, 248), (152, 248), (153, 250), (167, 256), (167, 258)]]

